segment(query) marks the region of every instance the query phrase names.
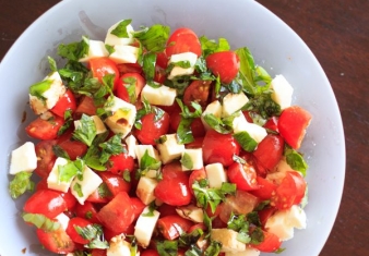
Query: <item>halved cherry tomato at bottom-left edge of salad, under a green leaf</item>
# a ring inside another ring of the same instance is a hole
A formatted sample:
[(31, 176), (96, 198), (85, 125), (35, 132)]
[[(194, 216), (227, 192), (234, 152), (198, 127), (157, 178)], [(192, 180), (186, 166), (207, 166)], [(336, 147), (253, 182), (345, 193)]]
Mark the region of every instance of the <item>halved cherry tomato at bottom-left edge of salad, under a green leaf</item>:
[(75, 244), (60, 228), (56, 231), (36, 230), (37, 237), (45, 248), (56, 254), (68, 254), (75, 249)]

